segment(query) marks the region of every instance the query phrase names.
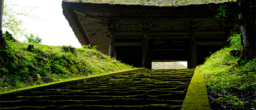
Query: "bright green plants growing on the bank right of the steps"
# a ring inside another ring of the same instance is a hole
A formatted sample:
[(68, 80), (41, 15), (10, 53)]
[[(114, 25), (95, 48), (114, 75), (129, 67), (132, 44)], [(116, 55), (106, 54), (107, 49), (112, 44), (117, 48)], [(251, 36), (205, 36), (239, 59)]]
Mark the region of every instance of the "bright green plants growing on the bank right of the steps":
[(244, 102), (237, 99), (236, 96), (226, 94), (227, 89), (256, 91), (256, 59), (246, 62), (239, 60), (239, 54), (230, 54), (235, 52), (234, 50), (241, 50), (241, 39), (239, 38), (239, 35), (231, 36), (229, 38), (230, 47), (215, 52), (200, 66), (206, 85), (216, 93), (224, 93), (222, 97), (215, 100), (235, 106), (244, 105)]

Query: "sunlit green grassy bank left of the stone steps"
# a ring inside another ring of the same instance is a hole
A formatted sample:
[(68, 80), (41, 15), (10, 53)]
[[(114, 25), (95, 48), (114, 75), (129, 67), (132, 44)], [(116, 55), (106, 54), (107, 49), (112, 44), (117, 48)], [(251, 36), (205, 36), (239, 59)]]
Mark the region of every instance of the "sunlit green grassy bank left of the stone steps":
[[(48, 46), (7, 41), (0, 50), (0, 91), (132, 69), (94, 47)], [(34, 48), (28, 49), (29, 45)]]

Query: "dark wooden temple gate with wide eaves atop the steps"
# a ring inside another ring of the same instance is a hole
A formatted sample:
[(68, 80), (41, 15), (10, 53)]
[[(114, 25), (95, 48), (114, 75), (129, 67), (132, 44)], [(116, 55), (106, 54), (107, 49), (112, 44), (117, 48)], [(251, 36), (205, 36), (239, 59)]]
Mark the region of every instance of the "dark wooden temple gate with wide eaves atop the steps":
[(63, 13), (81, 44), (122, 62), (151, 69), (152, 61), (188, 61), (195, 68), (228, 46), (236, 18), (214, 18), (220, 4), (159, 7), (63, 2)]

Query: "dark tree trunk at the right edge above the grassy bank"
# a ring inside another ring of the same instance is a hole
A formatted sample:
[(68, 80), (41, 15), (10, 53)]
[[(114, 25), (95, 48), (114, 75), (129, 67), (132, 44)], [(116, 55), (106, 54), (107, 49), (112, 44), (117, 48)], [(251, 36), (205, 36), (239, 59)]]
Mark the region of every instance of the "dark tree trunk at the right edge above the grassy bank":
[[(239, 5), (241, 6), (240, 2)], [(243, 14), (239, 14), (239, 19), (242, 19)], [(244, 14), (246, 15), (246, 14)], [(255, 19), (252, 24), (248, 26), (240, 26), (241, 30), (241, 60), (256, 59), (256, 23)]]

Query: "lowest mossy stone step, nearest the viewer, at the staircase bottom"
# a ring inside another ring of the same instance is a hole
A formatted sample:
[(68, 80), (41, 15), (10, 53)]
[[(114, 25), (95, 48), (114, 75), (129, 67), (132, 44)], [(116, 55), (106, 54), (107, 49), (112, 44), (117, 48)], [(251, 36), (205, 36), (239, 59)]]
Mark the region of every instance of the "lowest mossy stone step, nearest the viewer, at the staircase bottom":
[(44, 107), (47, 105), (102, 105), (102, 106), (118, 106), (118, 105), (146, 105), (146, 104), (168, 104), (168, 105), (182, 105), (183, 100), (159, 100), (159, 99), (99, 99), (99, 100), (17, 100), (1, 102), (1, 107), (20, 107), (20, 106), (36, 106)]

